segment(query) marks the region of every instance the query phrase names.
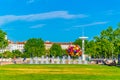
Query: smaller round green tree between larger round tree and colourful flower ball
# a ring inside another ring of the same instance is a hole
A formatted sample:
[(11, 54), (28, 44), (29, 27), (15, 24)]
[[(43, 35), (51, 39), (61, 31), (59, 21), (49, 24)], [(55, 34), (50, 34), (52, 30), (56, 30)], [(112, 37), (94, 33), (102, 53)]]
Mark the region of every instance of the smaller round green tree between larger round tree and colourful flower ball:
[(52, 56), (61, 56), (62, 55), (62, 48), (60, 44), (54, 43), (52, 47), (50, 48), (50, 55)]

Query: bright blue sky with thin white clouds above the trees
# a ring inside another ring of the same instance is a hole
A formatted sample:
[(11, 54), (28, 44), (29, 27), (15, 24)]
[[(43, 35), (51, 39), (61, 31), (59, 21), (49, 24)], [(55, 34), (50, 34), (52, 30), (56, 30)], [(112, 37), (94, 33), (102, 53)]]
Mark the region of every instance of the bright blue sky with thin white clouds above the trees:
[(0, 28), (12, 41), (91, 40), (120, 22), (120, 0), (0, 0)]

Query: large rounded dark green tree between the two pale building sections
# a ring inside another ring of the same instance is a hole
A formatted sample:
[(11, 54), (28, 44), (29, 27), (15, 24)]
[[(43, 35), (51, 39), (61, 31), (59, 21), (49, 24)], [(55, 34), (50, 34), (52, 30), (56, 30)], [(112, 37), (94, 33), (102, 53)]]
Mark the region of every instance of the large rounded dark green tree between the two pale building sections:
[(31, 57), (45, 55), (45, 45), (41, 38), (31, 38), (24, 46), (25, 54)]

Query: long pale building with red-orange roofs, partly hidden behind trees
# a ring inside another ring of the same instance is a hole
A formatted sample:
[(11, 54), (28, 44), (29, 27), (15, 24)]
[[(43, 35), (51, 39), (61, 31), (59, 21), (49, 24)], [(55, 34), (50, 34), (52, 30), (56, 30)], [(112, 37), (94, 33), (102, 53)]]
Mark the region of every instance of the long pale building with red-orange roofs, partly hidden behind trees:
[[(50, 47), (54, 43), (60, 44), (62, 49), (67, 49), (70, 45), (73, 45), (71, 42), (50, 42), (50, 41), (46, 41), (44, 43), (46, 50), (50, 49)], [(12, 41), (9, 41), (9, 44), (5, 49), (0, 49), (0, 53), (3, 53), (5, 51), (12, 52), (13, 50), (19, 50), (19, 51), (23, 52), (24, 51), (24, 45), (25, 45), (25, 42), (12, 42)]]

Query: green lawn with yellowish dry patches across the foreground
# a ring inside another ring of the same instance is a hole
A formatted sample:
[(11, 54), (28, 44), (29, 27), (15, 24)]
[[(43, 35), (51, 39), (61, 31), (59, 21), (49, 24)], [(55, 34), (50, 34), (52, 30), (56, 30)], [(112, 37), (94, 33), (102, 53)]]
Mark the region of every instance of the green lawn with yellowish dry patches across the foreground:
[(0, 80), (120, 80), (120, 67), (104, 65), (4, 65)]

